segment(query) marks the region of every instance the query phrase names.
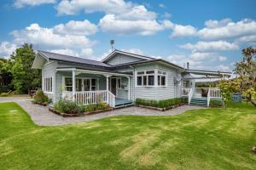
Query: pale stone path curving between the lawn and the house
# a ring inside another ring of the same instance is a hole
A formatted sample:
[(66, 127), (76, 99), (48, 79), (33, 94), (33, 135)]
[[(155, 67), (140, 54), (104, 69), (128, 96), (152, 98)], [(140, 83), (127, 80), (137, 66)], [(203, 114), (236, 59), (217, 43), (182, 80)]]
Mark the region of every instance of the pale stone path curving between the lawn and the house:
[(54, 113), (48, 111), (48, 107), (41, 105), (34, 105), (30, 98), (19, 98), (19, 97), (8, 97), (1, 98), (1, 102), (13, 101), (19, 104), (29, 116), (31, 116), (32, 121), (40, 126), (58, 126), (65, 125), (75, 122), (88, 122), (97, 119), (101, 119), (108, 116), (121, 116), (121, 115), (135, 115), (135, 116), (174, 116), (182, 114), (185, 111), (190, 111), (194, 109), (206, 109), (201, 106), (183, 105), (169, 111), (154, 111), (145, 108), (140, 108), (136, 106), (131, 106), (127, 108), (117, 109), (113, 111), (107, 111), (103, 113), (98, 113), (90, 116), (79, 116), (79, 117), (62, 117), (55, 115)]

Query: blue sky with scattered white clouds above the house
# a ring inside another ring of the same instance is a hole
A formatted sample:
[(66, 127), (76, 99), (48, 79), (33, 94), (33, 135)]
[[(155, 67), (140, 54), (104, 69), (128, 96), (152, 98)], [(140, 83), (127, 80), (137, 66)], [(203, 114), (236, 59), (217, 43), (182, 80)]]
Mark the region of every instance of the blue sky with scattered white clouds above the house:
[(193, 69), (231, 71), (241, 49), (256, 45), (256, 1), (1, 1), (0, 56), (22, 43), (102, 59), (115, 48), (189, 61)]

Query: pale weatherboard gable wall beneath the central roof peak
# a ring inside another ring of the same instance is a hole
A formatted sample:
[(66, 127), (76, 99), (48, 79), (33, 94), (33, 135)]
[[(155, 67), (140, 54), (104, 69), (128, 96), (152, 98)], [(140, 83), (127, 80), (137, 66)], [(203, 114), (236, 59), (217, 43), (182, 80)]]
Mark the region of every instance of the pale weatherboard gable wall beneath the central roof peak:
[(113, 56), (113, 58), (111, 58), (107, 61), (107, 64), (108, 65), (120, 65), (120, 64), (131, 63), (131, 62), (142, 61), (142, 60), (144, 60), (144, 59), (139, 59), (137, 57), (132, 57), (132, 56), (125, 55), (125, 54), (116, 54), (115, 56)]

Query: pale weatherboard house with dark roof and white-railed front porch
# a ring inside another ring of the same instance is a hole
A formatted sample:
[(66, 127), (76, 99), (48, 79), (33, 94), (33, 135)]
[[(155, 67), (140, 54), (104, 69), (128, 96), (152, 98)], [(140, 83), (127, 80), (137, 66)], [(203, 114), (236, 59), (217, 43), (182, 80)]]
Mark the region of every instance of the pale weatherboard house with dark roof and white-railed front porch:
[[(118, 107), (132, 105), (137, 98), (189, 96), (190, 89), (195, 94), (195, 79), (189, 76), (193, 70), (119, 50), (102, 61), (38, 51), (32, 67), (42, 69), (42, 89), (53, 102), (66, 98), (88, 105), (101, 100)], [(208, 71), (207, 75), (225, 77), (230, 73)]]

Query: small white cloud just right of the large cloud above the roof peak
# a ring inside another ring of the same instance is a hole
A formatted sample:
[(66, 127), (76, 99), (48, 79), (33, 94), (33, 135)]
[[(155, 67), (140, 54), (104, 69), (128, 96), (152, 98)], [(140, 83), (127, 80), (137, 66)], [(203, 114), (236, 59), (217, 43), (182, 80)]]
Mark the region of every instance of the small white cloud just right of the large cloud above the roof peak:
[(195, 36), (196, 29), (193, 26), (182, 26), (174, 24), (172, 26), (172, 37), (189, 37)]

